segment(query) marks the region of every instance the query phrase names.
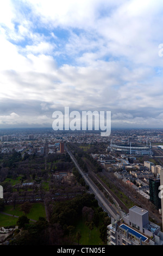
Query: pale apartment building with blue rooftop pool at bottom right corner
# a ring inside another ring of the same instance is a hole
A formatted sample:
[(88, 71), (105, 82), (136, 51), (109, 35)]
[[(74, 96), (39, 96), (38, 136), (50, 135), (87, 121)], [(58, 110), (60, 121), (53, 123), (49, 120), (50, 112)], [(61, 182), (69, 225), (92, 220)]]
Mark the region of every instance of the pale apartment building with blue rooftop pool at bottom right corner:
[(107, 228), (108, 245), (163, 245), (160, 226), (150, 222), (148, 211), (138, 206), (121, 219), (111, 218)]

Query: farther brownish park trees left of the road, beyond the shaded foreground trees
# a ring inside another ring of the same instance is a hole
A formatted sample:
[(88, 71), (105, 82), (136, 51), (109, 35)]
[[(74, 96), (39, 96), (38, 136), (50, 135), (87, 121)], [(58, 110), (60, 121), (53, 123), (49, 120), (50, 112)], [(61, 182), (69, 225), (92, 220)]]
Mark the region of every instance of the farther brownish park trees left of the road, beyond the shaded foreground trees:
[[(0, 157), (0, 185), (3, 186), (4, 203), (12, 202), (14, 208), (16, 202), (36, 202), (37, 198), (43, 201), (46, 197), (55, 198), (56, 193), (67, 197), (75, 196), (77, 192), (86, 190), (83, 179), (76, 180), (75, 176), (70, 176), (68, 180), (55, 178), (55, 171), (72, 173), (74, 164), (68, 154), (49, 154), (47, 169), (45, 157), (39, 155), (30, 155), (24, 160), (23, 157), (20, 159), (20, 154), (12, 151), (11, 154), (1, 154)], [(11, 167), (5, 163), (8, 160), (13, 163)]]

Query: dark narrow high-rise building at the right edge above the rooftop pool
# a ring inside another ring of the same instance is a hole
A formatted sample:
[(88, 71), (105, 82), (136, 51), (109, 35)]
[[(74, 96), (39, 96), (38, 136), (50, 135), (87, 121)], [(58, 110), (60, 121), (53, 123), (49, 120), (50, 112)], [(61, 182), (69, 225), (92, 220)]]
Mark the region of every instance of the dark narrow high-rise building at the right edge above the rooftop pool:
[(160, 192), (160, 179), (149, 178), (149, 200), (156, 206), (157, 209), (161, 209), (161, 199), (159, 198)]

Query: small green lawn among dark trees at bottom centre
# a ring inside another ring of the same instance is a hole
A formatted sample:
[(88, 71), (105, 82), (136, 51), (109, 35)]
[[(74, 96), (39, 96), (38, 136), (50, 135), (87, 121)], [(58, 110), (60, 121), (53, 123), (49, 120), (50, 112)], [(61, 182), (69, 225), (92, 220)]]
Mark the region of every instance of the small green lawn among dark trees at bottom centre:
[[(99, 228), (96, 227), (93, 228), (93, 230), (90, 230), (85, 225), (84, 220), (79, 220), (76, 225), (76, 232), (80, 231), (80, 234), (82, 235), (81, 239), (79, 240), (80, 245), (104, 245), (103, 241), (100, 239), (100, 232)], [(76, 242), (78, 242), (76, 240)]]

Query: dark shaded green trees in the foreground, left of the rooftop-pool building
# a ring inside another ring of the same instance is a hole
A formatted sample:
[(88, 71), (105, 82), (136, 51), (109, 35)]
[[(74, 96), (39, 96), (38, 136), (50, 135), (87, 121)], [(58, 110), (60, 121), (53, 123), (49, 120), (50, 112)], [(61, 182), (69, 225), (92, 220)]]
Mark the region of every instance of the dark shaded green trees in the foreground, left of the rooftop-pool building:
[(106, 226), (110, 218), (99, 208), (93, 194), (77, 195), (67, 202), (48, 205), (50, 220), (40, 217), (30, 224), (26, 215), (18, 218), (18, 230), (10, 245), (72, 245), (80, 240), (80, 232), (75, 227), (80, 218), (84, 218), (90, 232), (95, 227), (101, 231), (101, 239), (106, 242)]

